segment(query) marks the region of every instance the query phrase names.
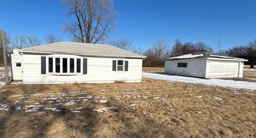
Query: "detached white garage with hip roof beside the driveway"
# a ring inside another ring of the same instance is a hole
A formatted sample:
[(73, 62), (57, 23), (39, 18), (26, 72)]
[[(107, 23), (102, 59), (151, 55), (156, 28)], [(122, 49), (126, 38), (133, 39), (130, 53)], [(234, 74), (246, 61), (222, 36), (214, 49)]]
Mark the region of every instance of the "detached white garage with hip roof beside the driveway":
[(199, 78), (243, 77), (245, 59), (196, 52), (165, 59), (165, 74)]

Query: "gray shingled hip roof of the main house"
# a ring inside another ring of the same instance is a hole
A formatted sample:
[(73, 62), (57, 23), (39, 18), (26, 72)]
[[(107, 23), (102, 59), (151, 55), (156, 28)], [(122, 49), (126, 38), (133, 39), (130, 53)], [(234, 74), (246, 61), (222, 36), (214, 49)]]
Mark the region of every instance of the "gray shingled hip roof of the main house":
[(131, 58), (146, 58), (144, 55), (123, 50), (121, 48), (89, 43), (57, 42), (47, 45), (35, 46), (19, 50), (20, 52), (33, 53), (60, 53), (60, 54), (82, 54), (93, 56), (118, 56)]

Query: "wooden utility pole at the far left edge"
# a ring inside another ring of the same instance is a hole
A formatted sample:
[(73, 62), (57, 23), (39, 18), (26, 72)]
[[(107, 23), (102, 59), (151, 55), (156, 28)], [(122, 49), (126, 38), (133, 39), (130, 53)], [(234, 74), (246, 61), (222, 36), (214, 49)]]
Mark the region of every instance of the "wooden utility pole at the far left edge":
[(2, 47), (3, 47), (3, 56), (4, 56), (4, 76), (5, 76), (5, 84), (9, 83), (9, 75), (8, 75), (8, 66), (7, 66), (7, 57), (6, 57), (6, 47), (5, 47), (5, 33), (4, 30), (0, 30), (2, 34)]

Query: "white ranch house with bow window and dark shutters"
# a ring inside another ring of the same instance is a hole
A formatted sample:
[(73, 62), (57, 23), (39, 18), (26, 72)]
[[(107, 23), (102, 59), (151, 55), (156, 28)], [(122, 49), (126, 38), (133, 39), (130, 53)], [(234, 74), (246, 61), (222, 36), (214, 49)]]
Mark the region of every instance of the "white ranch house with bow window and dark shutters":
[(13, 80), (23, 84), (141, 82), (146, 56), (111, 45), (58, 42), (14, 50)]

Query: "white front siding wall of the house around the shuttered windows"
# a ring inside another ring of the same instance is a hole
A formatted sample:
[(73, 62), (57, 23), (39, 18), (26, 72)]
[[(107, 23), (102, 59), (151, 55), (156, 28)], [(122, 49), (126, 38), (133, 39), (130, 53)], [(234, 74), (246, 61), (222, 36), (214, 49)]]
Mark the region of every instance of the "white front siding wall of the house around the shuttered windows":
[[(23, 55), (23, 83), (24, 84), (55, 84), (55, 83), (113, 83), (115, 80), (125, 82), (141, 82), (142, 60), (141, 59), (114, 59), (82, 57), (76, 55), (50, 55), (67, 58), (87, 58), (87, 75), (41, 75), (41, 56)], [(49, 55), (47, 55), (49, 56)], [(129, 61), (128, 71), (112, 71), (113, 60)], [(47, 69), (47, 68), (46, 68)], [(81, 67), (81, 71), (82, 71)]]

